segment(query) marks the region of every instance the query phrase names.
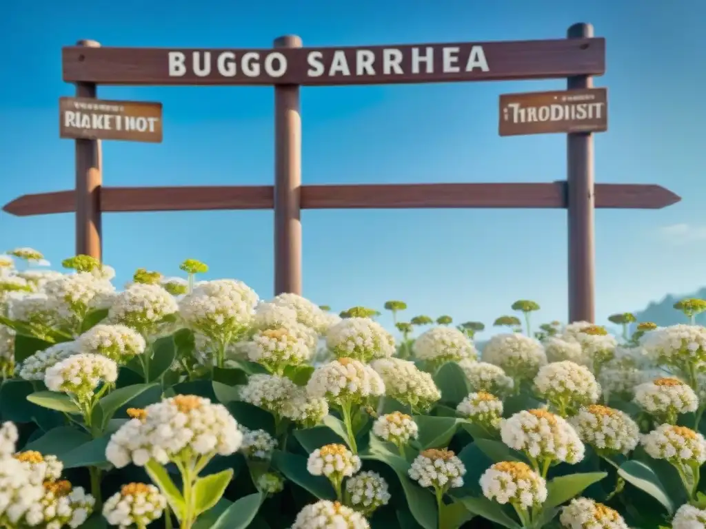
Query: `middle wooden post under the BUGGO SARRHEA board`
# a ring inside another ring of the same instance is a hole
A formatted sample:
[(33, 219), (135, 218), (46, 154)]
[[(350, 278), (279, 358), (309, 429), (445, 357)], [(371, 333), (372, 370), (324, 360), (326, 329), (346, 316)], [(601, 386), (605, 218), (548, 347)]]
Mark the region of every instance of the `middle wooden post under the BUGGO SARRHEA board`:
[[(275, 39), (301, 48), (301, 39)], [(301, 115), (299, 85), (275, 85), (275, 295), (301, 294)]]

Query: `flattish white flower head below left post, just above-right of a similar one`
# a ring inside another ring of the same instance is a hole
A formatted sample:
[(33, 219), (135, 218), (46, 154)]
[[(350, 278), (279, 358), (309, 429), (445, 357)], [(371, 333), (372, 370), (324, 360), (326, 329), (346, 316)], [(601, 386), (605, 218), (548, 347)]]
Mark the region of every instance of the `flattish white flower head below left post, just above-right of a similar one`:
[(83, 353), (102, 355), (117, 363), (127, 363), (145, 352), (143, 336), (125, 325), (97, 324), (76, 340)]

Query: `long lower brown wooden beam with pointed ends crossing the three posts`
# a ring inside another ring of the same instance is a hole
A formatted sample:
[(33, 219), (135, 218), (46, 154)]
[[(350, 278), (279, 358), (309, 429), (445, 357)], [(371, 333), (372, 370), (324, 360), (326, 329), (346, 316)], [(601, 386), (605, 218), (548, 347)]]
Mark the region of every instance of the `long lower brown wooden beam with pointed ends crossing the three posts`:
[[(652, 184), (596, 184), (596, 207), (660, 209), (681, 197)], [(272, 209), (273, 186), (102, 188), (102, 212)], [(301, 186), (301, 209), (566, 208), (566, 182)], [(76, 211), (73, 191), (22, 195), (3, 210), (25, 217)]]

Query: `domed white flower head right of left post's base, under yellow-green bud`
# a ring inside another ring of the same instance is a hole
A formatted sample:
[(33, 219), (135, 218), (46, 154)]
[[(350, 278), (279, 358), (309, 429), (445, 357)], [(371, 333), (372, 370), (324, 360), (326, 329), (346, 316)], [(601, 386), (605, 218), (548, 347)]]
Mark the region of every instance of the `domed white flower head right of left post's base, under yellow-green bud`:
[(160, 332), (162, 320), (176, 316), (177, 310), (174, 296), (161, 286), (136, 283), (115, 297), (107, 321), (132, 327), (150, 339)]

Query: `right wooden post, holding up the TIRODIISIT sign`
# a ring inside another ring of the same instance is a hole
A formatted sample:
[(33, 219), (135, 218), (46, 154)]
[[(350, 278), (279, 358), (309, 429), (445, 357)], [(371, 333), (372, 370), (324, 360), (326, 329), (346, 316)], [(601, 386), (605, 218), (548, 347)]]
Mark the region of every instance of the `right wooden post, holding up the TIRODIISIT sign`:
[[(574, 24), (570, 39), (593, 37), (593, 26)], [(568, 90), (592, 88), (591, 75), (567, 79)], [(595, 319), (594, 152), (592, 133), (567, 135), (569, 322)]]

